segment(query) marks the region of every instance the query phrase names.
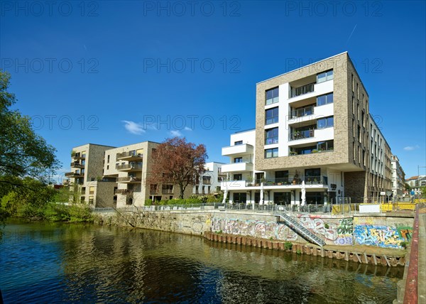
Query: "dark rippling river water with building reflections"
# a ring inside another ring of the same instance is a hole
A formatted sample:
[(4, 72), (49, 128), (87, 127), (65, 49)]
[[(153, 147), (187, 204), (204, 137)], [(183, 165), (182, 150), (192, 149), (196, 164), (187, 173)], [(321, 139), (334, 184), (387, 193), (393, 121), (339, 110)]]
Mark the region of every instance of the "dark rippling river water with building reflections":
[(392, 303), (403, 267), (92, 224), (9, 222), (5, 303)]

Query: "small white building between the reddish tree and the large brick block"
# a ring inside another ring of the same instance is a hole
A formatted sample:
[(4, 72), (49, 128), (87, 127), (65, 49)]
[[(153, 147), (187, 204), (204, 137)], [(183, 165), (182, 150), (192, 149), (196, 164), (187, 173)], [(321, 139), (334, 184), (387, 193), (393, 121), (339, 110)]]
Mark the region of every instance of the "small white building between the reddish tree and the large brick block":
[(226, 178), (222, 173), (224, 163), (209, 162), (204, 165), (204, 173), (196, 177), (192, 193), (195, 195), (219, 195), (220, 185)]

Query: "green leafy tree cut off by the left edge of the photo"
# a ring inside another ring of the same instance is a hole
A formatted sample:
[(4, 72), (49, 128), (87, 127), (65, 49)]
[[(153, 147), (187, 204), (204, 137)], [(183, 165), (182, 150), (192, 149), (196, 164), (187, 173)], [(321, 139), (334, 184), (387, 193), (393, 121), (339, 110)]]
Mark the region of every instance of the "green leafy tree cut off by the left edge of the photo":
[[(9, 80), (9, 73), (0, 70), (0, 197), (2, 202), (6, 195), (25, 198), (37, 209), (50, 199), (46, 184), (60, 163), (55, 148), (35, 134), (30, 117), (11, 109), (16, 97), (8, 92)], [(11, 215), (8, 207), (10, 203), (0, 207), (1, 224)]]

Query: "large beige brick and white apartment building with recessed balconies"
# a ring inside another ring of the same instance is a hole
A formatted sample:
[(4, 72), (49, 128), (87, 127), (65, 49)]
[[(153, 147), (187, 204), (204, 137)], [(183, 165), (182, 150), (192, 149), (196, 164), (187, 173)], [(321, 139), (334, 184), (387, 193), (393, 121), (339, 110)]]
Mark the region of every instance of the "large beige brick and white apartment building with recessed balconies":
[[(231, 202), (377, 200), (391, 190), (391, 149), (348, 53), (256, 85), (256, 129), (231, 135), (222, 155)], [(261, 200), (263, 194), (263, 201)]]

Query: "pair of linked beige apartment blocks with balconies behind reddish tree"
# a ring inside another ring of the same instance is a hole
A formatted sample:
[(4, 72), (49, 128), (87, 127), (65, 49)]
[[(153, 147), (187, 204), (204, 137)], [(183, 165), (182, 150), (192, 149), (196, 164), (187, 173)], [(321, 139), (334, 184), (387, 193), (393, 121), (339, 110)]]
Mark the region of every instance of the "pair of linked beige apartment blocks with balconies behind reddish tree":
[[(89, 202), (93, 207), (143, 206), (151, 199), (170, 200), (180, 195), (173, 183), (151, 184), (152, 153), (159, 143), (144, 141), (111, 147), (89, 143), (73, 148), (70, 200)], [(192, 186), (185, 189), (185, 197)]]

